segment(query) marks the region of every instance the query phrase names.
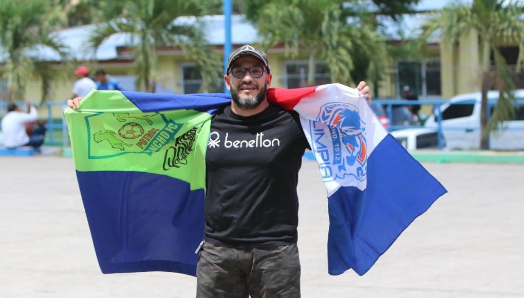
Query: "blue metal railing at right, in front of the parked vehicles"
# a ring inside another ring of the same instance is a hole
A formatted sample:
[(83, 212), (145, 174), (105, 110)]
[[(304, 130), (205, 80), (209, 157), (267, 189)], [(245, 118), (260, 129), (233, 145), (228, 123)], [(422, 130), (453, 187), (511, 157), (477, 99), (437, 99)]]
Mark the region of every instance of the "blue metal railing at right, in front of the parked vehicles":
[[(436, 117), (436, 123), (437, 123), (437, 136), (438, 136), (438, 148), (439, 149), (442, 149), (444, 147), (444, 142), (443, 142), (443, 137), (442, 137), (442, 131), (443, 130), (479, 130), (481, 129), (480, 127), (480, 123), (478, 126), (464, 126), (464, 127), (458, 127), (458, 126), (454, 126), (454, 127), (443, 127), (442, 126), (442, 113), (440, 113), (441, 111), (441, 106), (444, 105), (444, 104), (450, 104), (450, 105), (471, 105), (471, 104), (476, 104), (477, 101), (472, 99), (472, 100), (467, 100), (467, 99), (464, 99), (464, 100), (461, 100), (460, 102), (454, 102), (454, 103), (451, 103), (450, 101), (447, 101), (447, 100), (423, 100), (423, 101), (411, 101), (411, 100), (380, 100), (380, 99), (377, 99), (377, 100), (373, 100), (373, 103), (377, 103), (377, 104), (381, 104), (383, 106), (386, 106), (386, 111), (387, 111), (387, 116), (388, 118), (390, 119), (390, 121), (392, 121), (393, 119), (393, 106), (394, 105), (434, 105), (436, 108), (433, 109), (433, 111), (439, 111), (439, 113), (436, 113), (435, 117)], [(488, 100), (488, 108), (487, 108), (487, 112), (488, 112), (488, 120), (489, 118), (491, 117), (491, 107), (496, 105), (497, 104), (497, 101), (495, 100)], [(515, 102), (516, 105), (524, 105), (524, 100), (517, 100)], [(420, 127), (424, 127), (424, 126), (389, 126), (389, 129), (390, 130), (395, 130), (395, 129), (405, 129), (405, 128), (420, 128)], [(524, 130), (524, 128), (506, 128), (508, 130)]]

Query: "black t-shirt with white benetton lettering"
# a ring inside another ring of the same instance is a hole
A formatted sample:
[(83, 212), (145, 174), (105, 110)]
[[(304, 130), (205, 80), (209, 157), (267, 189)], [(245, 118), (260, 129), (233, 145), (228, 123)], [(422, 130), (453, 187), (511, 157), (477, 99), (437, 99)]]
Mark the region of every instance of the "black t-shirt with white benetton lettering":
[(206, 152), (205, 241), (230, 247), (296, 243), (305, 148), (296, 112), (269, 105), (248, 117), (231, 106), (217, 113)]

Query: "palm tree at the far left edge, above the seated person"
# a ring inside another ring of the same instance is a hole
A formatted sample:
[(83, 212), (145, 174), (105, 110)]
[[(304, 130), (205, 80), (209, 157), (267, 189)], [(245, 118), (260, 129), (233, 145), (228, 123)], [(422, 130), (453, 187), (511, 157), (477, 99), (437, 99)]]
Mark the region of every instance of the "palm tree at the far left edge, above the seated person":
[(0, 63), (7, 78), (9, 101), (23, 100), (28, 78), (36, 74), (42, 82), (42, 98), (49, 94), (57, 72), (42, 61), (36, 52), (49, 48), (61, 59), (66, 56), (63, 46), (51, 34), (53, 19), (45, 0), (0, 0)]

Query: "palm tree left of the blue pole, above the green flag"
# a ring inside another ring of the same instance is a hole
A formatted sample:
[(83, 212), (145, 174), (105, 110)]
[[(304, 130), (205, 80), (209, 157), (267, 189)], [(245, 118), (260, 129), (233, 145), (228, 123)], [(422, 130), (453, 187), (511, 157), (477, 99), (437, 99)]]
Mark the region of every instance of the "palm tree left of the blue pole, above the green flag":
[(199, 68), (201, 92), (211, 89), (221, 75), (221, 59), (205, 44), (202, 30), (175, 21), (180, 16), (195, 16), (203, 8), (192, 0), (125, 0), (118, 2), (122, 15), (97, 26), (91, 36), (91, 47), (95, 50), (108, 37), (117, 33), (131, 36), (130, 46), (136, 61), (138, 90), (155, 91), (157, 66), (156, 50), (161, 47), (180, 47)]

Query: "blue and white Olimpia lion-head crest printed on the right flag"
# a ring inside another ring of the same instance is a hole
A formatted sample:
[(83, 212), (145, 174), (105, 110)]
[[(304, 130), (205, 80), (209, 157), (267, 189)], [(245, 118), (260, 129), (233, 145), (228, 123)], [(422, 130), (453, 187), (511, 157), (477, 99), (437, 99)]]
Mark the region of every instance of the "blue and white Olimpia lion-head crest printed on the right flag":
[(349, 103), (329, 103), (310, 121), (313, 151), (324, 181), (353, 177), (366, 179), (366, 124), (359, 109)]

